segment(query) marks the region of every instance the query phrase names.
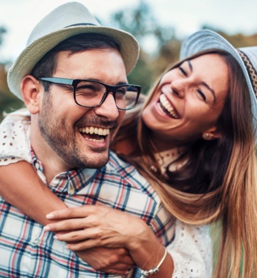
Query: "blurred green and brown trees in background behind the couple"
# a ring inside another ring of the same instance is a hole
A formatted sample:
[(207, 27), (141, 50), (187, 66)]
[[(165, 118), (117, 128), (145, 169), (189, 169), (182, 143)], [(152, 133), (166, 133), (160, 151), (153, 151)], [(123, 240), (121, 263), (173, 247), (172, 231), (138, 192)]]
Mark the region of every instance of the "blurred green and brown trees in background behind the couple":
[[(162, 26), (154, 15), (150, 6), (141, 0), (137, 6), (123, 9), (110, 16), (111, 24), (109, 25), (131, 33), (139, 41), (140, 57), (128, 79), (129, 83), (141, 85), (142, 93), (147, 93), (155, 78), (168, 65), (178, 60), (181, 46), (181, 41), (175, 36), (174, 27)], [(257, 34), (229, 35), (209, 25), (203, 25), (202, 28), (218, 32), (235, 47), (257, 46)], [(5, 28), (0, 27), (0, 45), (5, 32)], [(0, 63), (0, 120), (3, 111), (10, 112), (20, 108), (23, 104), (8, 90), (6, 82), (8, 66), (6, 61)]]

